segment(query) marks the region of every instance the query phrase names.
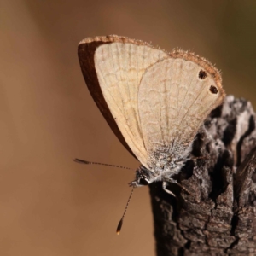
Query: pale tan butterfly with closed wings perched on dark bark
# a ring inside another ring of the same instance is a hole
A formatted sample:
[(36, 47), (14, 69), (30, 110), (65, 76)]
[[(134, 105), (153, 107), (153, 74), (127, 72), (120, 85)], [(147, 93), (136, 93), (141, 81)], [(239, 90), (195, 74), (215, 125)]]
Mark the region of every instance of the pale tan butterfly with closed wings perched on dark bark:
[(224, 101), (218, 70), (194, 53), (115, 35), (82, 40), (79, 62), (108, 125), (141, 163), (130, 185), (162, 181), (172, 194), (167, 183), (177, 183), (198, 129)]

